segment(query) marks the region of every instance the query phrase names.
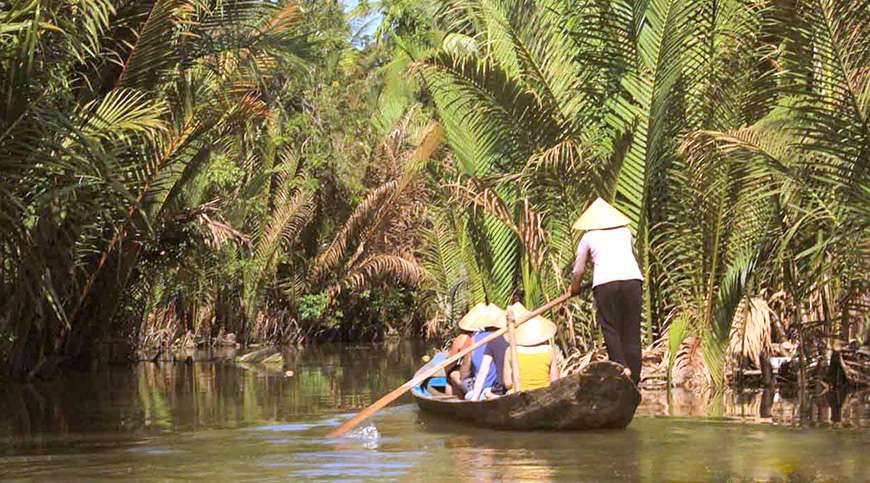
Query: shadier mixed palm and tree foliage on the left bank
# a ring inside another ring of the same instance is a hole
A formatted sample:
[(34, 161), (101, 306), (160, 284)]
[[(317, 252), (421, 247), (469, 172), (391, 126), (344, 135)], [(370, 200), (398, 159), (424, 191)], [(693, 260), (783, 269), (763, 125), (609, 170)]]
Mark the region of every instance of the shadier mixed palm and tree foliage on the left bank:
[(372, 61), (349, 49), (340, 5), (13, 2), (0, 15), (13, 376), (186, 330), (280, 339), (345, 323), (339, 305), (352, 323), (406, 305), (363, 289), (422, 276), (395, 219), (433, 143), (408, 144), (410, 120), (369, 127)]

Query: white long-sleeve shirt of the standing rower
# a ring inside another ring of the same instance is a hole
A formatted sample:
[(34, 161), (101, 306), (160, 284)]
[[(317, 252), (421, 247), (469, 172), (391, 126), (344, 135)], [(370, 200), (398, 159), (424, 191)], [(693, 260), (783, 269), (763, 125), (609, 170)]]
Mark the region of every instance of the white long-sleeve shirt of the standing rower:
[(593, 287), (617, 280), (643, 280), (631, 245), (631, 232), (626, 227), (587, 231), (577, 245), (574, 273), (583, 274), (591, 255)]

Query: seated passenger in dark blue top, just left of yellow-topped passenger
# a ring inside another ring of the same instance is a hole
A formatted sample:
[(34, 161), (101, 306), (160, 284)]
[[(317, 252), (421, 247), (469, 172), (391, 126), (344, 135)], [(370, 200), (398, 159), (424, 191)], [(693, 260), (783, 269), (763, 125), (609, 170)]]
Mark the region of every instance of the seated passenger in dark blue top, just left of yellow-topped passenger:
[[(489, 304), (489, 307), (492, 317), (481, 321), (484, 331), (478, 332), (472, 337), (474, 342), (505, 326), (504, 310), (494, 304)], [(504, 355), (507, 347), (507, 340), (503, 336), (498, 336), (472, 351), (471, 373), (474, 374), (474, 379), (469, 391), (465, 394), (465, 399), (479, 401), (485, 398), (498, 397), (507, 392), (502, 379)]]

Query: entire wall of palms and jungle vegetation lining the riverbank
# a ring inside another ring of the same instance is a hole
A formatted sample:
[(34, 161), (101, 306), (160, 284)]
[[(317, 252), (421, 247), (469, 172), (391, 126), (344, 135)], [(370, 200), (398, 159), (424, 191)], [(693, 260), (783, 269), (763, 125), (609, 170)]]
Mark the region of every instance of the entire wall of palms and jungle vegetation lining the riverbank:
[[(647, 372), (806, 379), (835, 349), (870, 380), (870, 2), (361, 2), (370, 35), (331, 1), (11, 5), (13, 377), (186, 333), (444, 337), (564, 292), (601, 196), (635, 233)], [(592, 314), (558, 311), (566, 351), (600, 345)]]

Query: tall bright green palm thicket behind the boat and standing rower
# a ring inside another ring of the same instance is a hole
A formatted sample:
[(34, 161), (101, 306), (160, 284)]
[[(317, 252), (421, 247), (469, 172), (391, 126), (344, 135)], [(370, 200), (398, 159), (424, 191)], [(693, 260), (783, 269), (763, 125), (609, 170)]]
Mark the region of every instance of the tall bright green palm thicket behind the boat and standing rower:
[[(439, 2), (414, 63), (452, 155), (427, 267), (472, 301), (552, 299), (601, 196), (632, 220), (646, 340), (678, 372), (757, 360), (771, 313), (866, 334), (868, 6)], [(593, 342), (588, 306), (563, 316)]]

